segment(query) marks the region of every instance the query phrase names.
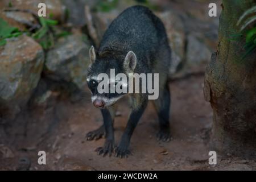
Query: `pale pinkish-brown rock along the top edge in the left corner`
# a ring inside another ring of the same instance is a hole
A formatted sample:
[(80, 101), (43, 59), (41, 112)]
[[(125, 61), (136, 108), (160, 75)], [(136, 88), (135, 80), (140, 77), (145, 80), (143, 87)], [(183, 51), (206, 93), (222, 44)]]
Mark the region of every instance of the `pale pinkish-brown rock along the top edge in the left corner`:
[(30, 10), (35, 14), (38, 14), (38, 4), (46, 4), (46, 14), (47, 17), (62, 21), (65, 14), (65, 6), (62, 5), (60, 0), (13, 0), (11, 1), (11, 7), (9, 0), (1, 0), (0, 7), (5, 9), (19, 9), (19, 10)]

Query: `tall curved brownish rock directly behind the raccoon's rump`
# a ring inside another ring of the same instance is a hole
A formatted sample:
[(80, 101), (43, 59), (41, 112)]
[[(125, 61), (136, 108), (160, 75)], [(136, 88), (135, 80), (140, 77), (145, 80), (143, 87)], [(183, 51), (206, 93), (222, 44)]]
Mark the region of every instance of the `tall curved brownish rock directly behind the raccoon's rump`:
[(179, 65), (185, 61), (185, 31), (184, 24), (181, 18), (174, 11), (166, 11), (164, 13), (157, 13), (156, 15), (164, 23), (172, 49), (172, 63), (170, 73), (173, 75), (179, 69)]

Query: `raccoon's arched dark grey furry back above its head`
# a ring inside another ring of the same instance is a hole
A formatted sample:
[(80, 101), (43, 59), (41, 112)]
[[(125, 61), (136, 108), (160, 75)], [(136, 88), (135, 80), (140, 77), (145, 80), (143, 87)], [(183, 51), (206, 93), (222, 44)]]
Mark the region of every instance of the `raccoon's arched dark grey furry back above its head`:
[[(163, 23), (144, 6), (133, 6), (110, 24), (102, 38), (99, 52), (125, 56), (134, 51), (139, 61), (154, 60), (159, 46), (168, 44)], [(150, 65), (148, 65), (150, 66)]]

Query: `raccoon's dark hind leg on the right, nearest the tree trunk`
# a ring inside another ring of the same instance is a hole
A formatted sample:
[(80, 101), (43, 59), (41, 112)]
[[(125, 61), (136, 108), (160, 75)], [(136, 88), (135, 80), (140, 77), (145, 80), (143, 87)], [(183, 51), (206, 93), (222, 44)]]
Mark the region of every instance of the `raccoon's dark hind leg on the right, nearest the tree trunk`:
[(159, 98), (154, 100), (154, 105), (156, 112), (158, 113), (160, 130), (156, 135), (158, 140), (162, 140), (163, 142), (169, 142), (171, 139), (170, 134), (170, 105), (171, 105), (171, 97), (170, 90), (168, 86), (168, 82), (162, 89), (162, 92), (159, 93)]

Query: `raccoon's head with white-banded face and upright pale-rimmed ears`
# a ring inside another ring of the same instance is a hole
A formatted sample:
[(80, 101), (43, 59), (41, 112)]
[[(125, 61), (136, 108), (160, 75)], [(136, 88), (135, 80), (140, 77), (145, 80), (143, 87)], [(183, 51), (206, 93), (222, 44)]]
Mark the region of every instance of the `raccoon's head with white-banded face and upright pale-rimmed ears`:
[[(112, 106), (115, 102), (117, 102), (120, 98), (125, 96), (127, 93), (118, 93), (115, 92), (116, 86), (118, 88), (128, 90), (128, 80), (123, 81), (122, 78), (115, 77), (118, 73), (122, 75), (128, 76), (129, 73), (133, 73), (137, 64), (137, 58), (134, 52), (130, 51), (127, 53), (124, 60), (117, 60), (112, 56), (104, 56), (104, 58), (97, 58), (96, 53), (94, 51), (94, 47), (92, 46), (89, 51), (91, 65), (89, 67), (88, 75), (87, 75), (87, 84), (92, 93), (92, 102), (95, 107), (108, 107)], [(114, 69), (114, 77), (113, 77), (113, 69)], [(104, 73), (104, 78), (99, 75)], [(111, 74), (110, 74), (111, 73)], [(118, 74), (118, 75), (121, 75)], [(102, 93), (101, 85), (108, 86), (108, 92)], [(110, 92), (110, 90), (114, 90)]]

